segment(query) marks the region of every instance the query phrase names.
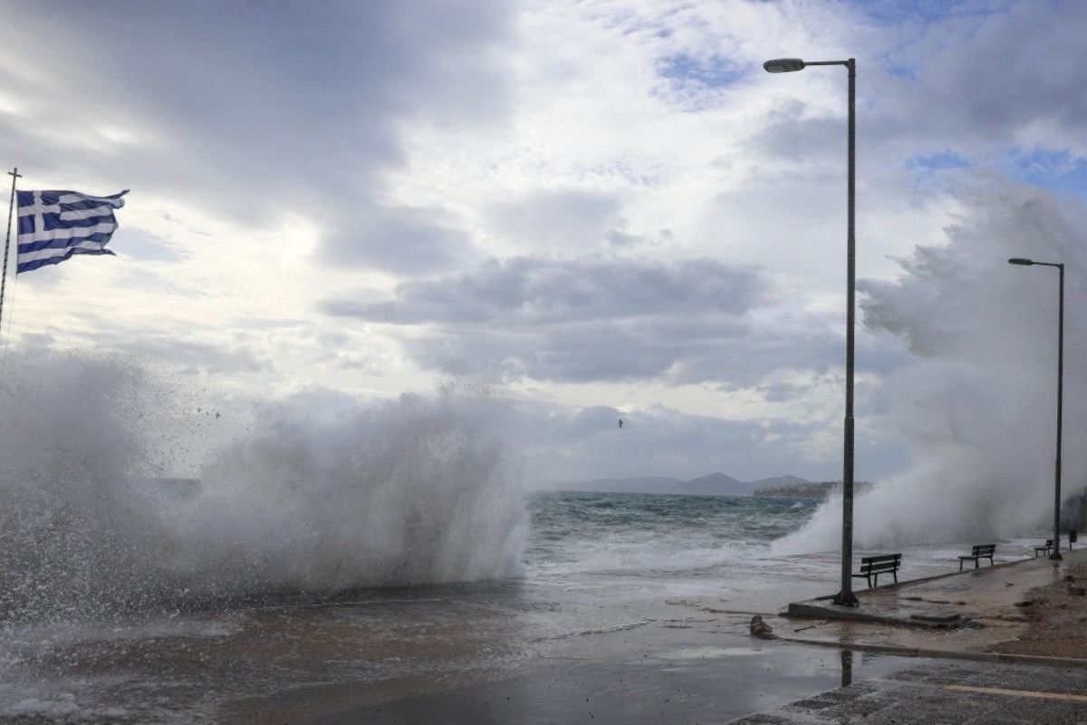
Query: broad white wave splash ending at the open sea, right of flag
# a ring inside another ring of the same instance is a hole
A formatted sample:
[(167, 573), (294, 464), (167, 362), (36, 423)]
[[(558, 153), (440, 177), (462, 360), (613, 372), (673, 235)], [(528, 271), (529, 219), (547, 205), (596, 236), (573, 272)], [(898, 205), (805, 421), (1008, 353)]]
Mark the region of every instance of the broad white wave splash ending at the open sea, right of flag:
[(493, 400), (455, 392), (267, 416), (201, 473), (174, 567), (210, 593), (516, 575), (526, 522), (501, 430)]

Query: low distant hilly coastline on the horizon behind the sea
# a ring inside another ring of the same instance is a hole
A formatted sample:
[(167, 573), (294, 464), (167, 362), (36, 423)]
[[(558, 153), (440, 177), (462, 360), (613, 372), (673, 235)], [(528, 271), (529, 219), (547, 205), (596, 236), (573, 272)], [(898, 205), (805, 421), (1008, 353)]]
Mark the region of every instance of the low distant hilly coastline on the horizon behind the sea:
[[(812, 482), (799, 476), (776, 476), (759, 480), (739, 480), (723, 473), (683, 480), (667, 476), (642, 478), (595, 478), (591, 480), (548, 482), (544, 490), (588, 491), (598, 493), (685, 493), (688, 496), (758, 496), (767, 498), (824, 499), (841, 482)], [(872, 487), (857, 482), (858, 492)]]

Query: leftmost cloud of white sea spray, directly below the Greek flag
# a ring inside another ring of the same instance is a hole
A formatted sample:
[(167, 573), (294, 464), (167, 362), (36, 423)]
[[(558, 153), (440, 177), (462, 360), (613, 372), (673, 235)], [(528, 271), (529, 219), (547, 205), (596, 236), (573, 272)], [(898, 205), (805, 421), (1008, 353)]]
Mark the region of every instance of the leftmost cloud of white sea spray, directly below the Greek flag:
[(140, 389), (148, 389), (145, 372), (115, 357), (8, 353), (0, 389), (4, 621), (142, 603), (147, 589), (135, 579), (153, 573), (154, 520), (124, 486), (141, 451), (128, 404)]

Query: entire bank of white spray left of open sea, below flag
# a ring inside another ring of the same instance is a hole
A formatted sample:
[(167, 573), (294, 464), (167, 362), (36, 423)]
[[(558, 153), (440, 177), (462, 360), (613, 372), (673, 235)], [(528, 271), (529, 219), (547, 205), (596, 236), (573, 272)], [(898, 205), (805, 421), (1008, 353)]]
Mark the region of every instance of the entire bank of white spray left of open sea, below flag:
[(485, 395), (268, 410), (199, 484), (161, 478), (173, 447), (215, 439), (174, 437), (183, 397), (121, 357), (8, 353), (0, 624), (521, 572), (520, 476)]

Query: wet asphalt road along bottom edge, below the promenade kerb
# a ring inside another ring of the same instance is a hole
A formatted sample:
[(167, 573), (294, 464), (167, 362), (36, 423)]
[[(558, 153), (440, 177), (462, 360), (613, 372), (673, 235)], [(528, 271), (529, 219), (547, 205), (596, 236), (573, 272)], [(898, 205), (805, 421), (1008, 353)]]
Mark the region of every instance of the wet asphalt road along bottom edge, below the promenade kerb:
[[(1087, 667), (873, 658), (833, 650), (797, 654), (792, 648), (770, 648), (750, 657), (674, 663), (559, 660), (539, 663), (529, 676), (372, 703), (304, 722), (1087, 725)], [(812, 674), (816, 662), (823, 676)]]

